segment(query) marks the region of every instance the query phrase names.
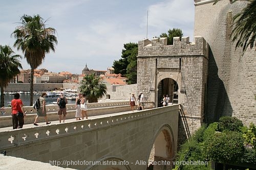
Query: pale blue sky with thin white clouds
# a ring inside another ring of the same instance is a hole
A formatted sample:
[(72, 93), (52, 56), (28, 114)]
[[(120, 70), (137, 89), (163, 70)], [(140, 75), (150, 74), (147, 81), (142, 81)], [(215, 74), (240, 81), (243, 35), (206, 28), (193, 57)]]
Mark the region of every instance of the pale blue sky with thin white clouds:
[(106, 70), (121, 58), (123, 44), (151, 40), (173, 28), (194, 40), (193, 0), (0, 0), (0, 4), (0, 45), (10, 45), (23, 56), (23, 69), (30, 66), (23, 52), (13, 47), (11, 34), (24, 14), (39, 14), (47, 27), (57, 31), (55, 52), (38, 67), (49, 72), (81, 74), (86, 64)]

